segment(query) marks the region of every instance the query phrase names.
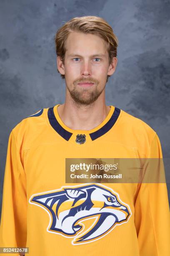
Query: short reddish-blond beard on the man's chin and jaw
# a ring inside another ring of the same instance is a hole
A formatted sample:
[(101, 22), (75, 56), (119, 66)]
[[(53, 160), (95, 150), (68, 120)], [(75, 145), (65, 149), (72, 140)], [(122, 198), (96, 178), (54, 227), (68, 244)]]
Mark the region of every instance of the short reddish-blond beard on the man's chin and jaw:
[(104, 87), (102, 88), (102, 90), (98, 90), (96, 86), (93, 90), (91, 90), (92, 88), (80, 88), (81, 90), (77, 90), (77, 86), (78, 85), (75, 85), (73, 90), (70, 90), (70, 88), (67, 86), (67, 89), (70, 92), (72, 100), (74, 100), (74, 102), (79, 105), (92, 104), (93, 102), (95, 102), (95, 100), (97, 100), (102, 91), (105, 89)]

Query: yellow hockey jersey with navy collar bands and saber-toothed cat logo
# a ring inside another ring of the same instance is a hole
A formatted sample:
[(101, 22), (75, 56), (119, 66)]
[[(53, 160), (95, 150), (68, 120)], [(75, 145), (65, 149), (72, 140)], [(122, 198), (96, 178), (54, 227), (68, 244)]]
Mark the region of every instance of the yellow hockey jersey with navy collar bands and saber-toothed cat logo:
[(166, 183), (65, 183), (65, 158), (163, 158), (157, 133), (112, 105), (96, 128), (72, 130), (58, 106), (10, 133), (0, 247), (29, 247), (30, 256), (170, 256)]

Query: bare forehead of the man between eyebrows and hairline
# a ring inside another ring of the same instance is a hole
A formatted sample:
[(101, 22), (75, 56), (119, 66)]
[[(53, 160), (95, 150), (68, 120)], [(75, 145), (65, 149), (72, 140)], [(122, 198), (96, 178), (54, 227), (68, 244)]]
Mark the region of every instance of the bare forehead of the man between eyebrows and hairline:
[(82, 33), (82, 32), (70, 32), (66, 41), (65, 41), (65, 54), (105, 54), (104, 39), (100, 36), (91, 34), (91, 33)]

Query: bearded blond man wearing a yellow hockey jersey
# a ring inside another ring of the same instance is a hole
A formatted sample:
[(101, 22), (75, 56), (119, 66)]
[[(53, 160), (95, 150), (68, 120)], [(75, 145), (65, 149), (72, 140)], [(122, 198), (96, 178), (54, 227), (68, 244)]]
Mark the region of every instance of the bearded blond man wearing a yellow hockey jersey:
[(169, 256), (166, 183), (65, 180), (67, 159), (163, 157), (152, 128), (105, 104), (117, 65), (112, 28), (99, 17), (73, 18), (55, 43), (65, 103), (23, 119), (10, 134), (0, 246), (28, 247), (31, 256)]

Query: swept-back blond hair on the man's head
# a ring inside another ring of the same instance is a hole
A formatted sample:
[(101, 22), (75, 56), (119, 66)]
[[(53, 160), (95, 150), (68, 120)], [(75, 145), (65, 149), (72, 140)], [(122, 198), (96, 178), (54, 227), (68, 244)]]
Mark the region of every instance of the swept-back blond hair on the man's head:
[[(106, 20), (97, 16), (75, 17), (59, 28), (54, 38), (56, 54), (60, 57), (63, 64), (66, 51), (65, 41), (69, 33), (73, 31), (96, 34), (104, 39), (105, 49), (109, 54), (109, 65), (112, 62), (112, 58), (117, 56), (118, 39)], [(61, 77), (65, 79), (65, 75), (61, 74)], [(107, 79), (108, 77), (110, 76), (107, 76)]]

